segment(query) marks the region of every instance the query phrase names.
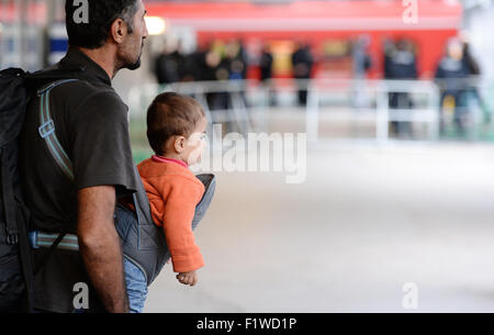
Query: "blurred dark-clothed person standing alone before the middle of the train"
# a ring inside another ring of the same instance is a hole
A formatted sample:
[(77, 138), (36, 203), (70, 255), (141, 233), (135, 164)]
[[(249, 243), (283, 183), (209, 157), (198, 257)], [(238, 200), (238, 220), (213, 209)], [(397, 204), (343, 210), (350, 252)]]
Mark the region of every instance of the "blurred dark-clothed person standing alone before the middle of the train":
[[(295, 52), (292, 54), (293, 77), (295, 79), (306, 80), (311, 78), (314, 59), (311, 47), (306, 43), (297, 43)], [(307, 104), (307, 83), (299, 82), (299, 104)]]

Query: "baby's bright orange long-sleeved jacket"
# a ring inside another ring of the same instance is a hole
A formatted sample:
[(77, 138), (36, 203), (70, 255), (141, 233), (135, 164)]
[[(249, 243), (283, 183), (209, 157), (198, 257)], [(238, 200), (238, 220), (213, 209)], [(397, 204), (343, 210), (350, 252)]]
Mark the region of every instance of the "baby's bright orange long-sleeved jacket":
[(175, 159), (153, 156), (137, 166), (149, 198), (153, 221), (162, 226), (175, 272), (189, 272), (204, 266), (192, 233), (195, 206), (204, 185)]

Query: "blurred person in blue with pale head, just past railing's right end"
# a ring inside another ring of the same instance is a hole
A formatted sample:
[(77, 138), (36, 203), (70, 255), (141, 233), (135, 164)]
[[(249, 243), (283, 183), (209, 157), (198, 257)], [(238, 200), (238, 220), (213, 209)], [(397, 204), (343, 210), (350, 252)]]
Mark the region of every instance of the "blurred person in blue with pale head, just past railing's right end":
[[(453, 111), (454, 124), (460, 135), (464, 135), (468, 115), (465, 93), (469, 85), (465, 79), (472, 75), (472, 68), (464, 57), (463, 43), (457, 37), (450, 38), (446, 46), (446, 55), (440, 59), (435, 75), (441, 89), (441, 110), (450, 108)], [(445, 130), (442, 119), (441, 131)]]

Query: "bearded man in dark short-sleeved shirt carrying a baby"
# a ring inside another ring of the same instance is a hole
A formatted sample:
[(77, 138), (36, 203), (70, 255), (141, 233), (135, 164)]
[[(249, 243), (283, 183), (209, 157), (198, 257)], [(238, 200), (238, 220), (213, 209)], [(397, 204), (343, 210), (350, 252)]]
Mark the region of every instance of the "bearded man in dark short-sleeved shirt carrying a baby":
[(78, 239), (78, 250), (64, 248), (69, 245), (64, 239), (54, 250), (34, 249), (35, 308), (47, 312), (128, 311), (114, 209), (119, 198), (142, 185), (132, 158), (127, 107), (111, 79), (120, 69), (139, 67), (146, 11), (142, 0), (88, 4), (66, 1), (69, 51), (57, 67), (83, 70), (81, 80), (53, 89), (49, 104), (74, 180), (55, 164), (40, 135), (40, 98), (29, 105), (20, 144), (33, 228)]

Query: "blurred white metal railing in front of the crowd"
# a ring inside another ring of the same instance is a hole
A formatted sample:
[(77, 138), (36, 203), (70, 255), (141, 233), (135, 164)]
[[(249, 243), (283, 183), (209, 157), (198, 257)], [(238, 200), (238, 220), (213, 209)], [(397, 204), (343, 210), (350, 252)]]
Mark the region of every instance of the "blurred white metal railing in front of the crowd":
[[(390, 122), (425, 123), (428, 125), (429, 139), (439, 137), (440, 90), (438, 85), (430, 80), (274, 79), (265, 83), (255, 80), (232, 80), (180, 82), (168, 86), (145, 85), (133, 87), (128, 101), (135, 115), (138, 111), (144, 113), (147, 105), (160, 92), (175, 91), (189, 94), (204, 105), (210, 124), (229, 122), (235, 124), (239, 132), (248, 133), (266, 131), (269, 94), (280, 90), (307, 90), (305, 131), (311, 143), (319, 141), (322, 103), (332, 94), (347, 97), (347, 107), (351, 111), (352, 120), (369, 115), (373, 118), (377, 141), (390, 138)], [(225, 93), (227, 108), (210, 110), (207, 96), (211, 93)], [(411, 109), (391, 109), (390, 93), (419, 97), (420, 103)]]

